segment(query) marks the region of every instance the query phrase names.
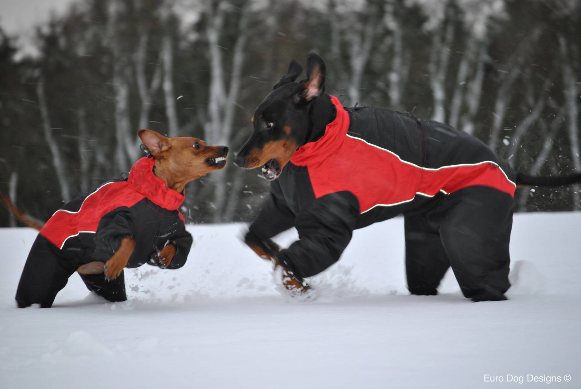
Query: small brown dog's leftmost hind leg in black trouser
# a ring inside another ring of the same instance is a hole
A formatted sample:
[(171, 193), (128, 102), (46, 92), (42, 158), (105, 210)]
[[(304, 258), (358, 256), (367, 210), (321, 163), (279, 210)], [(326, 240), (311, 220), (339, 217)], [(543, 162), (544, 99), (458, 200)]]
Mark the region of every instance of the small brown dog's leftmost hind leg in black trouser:
[(58, 253), (59, 249), (44, 236), (37, 236), (26, 258), (16, 290), (19, 308), (33, 304), (40, 304), (41, 308), (52, 306), (56, 294), (76, 270), (70, 260), (59, 257)]

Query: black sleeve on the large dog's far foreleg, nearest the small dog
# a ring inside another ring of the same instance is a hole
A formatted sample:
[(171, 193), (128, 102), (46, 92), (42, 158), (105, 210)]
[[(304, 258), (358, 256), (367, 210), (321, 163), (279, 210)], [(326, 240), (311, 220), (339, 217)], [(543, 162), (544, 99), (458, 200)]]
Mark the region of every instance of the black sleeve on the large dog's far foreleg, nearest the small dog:
[(286, 204), (278, 180), (270, 184), (270, 193), (264, 200), (258, 216), (250, 225), (250, 232), (261, 240), (267, 240), (295, 225), (295, 214)]

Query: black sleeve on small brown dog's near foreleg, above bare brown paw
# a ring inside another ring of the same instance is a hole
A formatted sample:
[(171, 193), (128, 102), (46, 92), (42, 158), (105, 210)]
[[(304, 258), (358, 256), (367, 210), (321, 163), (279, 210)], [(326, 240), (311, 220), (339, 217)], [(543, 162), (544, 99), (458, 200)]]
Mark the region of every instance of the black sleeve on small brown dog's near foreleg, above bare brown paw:
[(121, 239), (134, 237), (134, 217), (127, 207), (120, 207), (101, 218), (95, 233), (95, 261), (107, 262), (121, 246)]

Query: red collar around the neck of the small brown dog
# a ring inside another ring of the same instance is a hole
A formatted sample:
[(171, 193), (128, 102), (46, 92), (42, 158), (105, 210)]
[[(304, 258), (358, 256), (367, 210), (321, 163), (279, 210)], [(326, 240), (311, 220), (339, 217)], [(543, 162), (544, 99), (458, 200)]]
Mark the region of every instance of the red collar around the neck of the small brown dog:
[(166, 210), (177, 210), (185, 199), (185, 190), (182, 193), (174, 189), (166, 188), (166, 183), (163, 179), (153, 174), (155, 161), (153, 158), (143, 157), (139, 159), (129, 172), (128, 185), (131, 185), (135, 190), (153, 203), (157, 204)]

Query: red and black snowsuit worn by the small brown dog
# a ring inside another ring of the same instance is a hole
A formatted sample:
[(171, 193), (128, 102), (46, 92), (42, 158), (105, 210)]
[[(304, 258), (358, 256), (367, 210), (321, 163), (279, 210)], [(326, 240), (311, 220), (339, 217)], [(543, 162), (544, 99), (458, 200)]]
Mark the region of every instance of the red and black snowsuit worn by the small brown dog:
[[(77, 197), (56, 211), (46, 222), (28, 254), (16, 302), (51, 307), (67, 279), (82, 265), (108, 261), (121, 239), (135, 240), (127, 263), (135, 268), (150, 261), (168, 243), (176, 251), (168, 269), (185, 264), (192, 236), (185, 230), (178, 207), (184, 195), (166, 188), (153, 174), (153, 158), (144, 157), (131, 168), (125, 181), (109, 181), (90, 195)], [(109, 301), (124, 301), (124, 275), (112, 281), (105, 274), (81, 275), (88, 289)]]

